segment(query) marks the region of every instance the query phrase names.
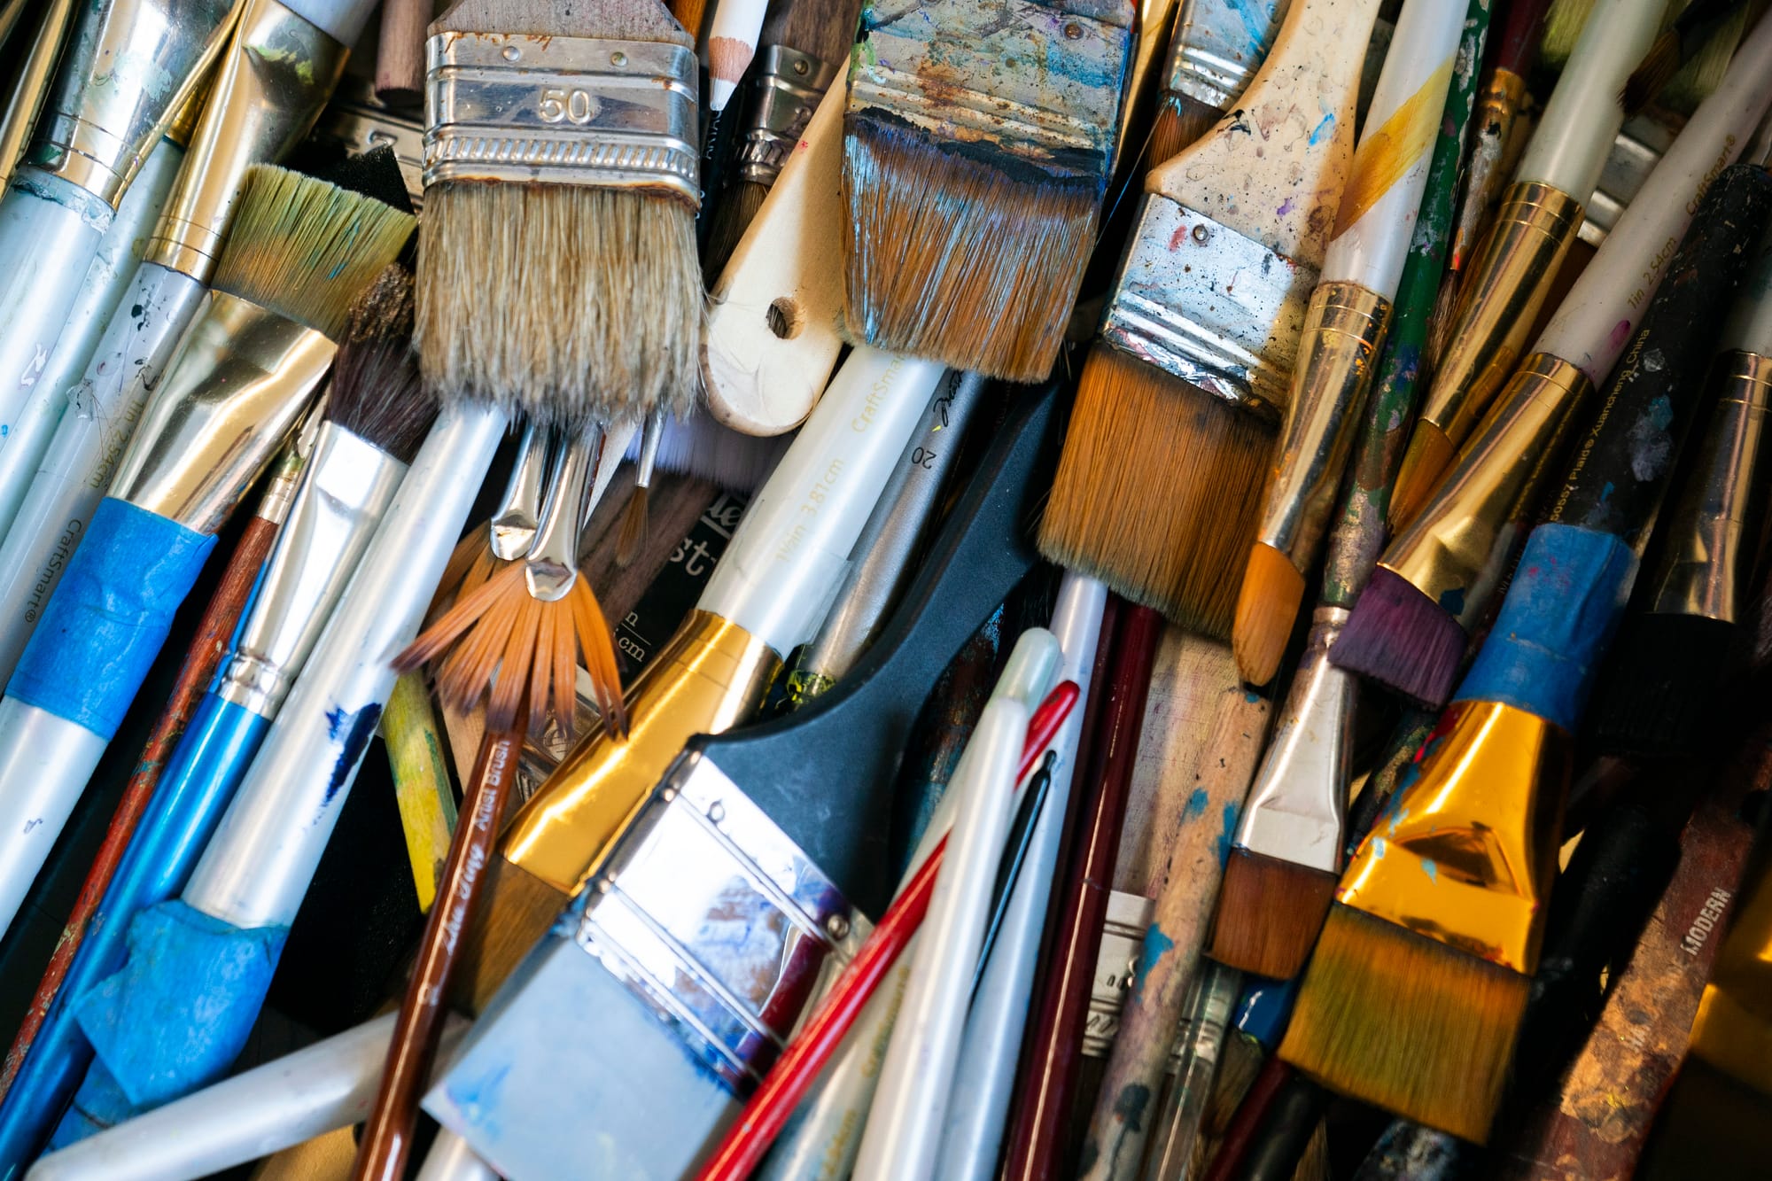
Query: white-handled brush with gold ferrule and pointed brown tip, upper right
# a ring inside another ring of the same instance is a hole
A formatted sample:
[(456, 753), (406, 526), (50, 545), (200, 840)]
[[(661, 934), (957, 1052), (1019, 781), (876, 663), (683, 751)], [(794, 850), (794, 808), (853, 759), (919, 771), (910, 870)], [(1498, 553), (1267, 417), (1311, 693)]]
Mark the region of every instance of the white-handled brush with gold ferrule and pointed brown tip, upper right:
[(1588, 18), (1460, 282), (1446, 353), (1391, 497), (1393, 530), (1416, 520), (1513, 372), (1625, 122), (1618, 90), (1655, 39), (1664, 7), (1660, 0), (1600, 0)]

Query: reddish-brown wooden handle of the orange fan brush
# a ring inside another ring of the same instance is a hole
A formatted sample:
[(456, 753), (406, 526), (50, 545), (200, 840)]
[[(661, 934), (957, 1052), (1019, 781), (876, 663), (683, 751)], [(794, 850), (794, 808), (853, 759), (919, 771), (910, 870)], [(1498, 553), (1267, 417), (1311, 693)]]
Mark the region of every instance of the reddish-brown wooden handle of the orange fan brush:
[(418, 1096), (431, 1076), (431, 1059), (443, 1034), (445, 997), (461, 933), (473, 922), (484, 869), (498, 842), (498, 826), (510, 802), (517, 775), (523, 731), (489, 731), (480, 739), (480, 757), (461, 800), (448, 864), (438, 883), (438, 901), (425, 920), (424, 942), (413, 979), (400, 998), (400, 1018), (388, 1041), (388, 1066), (381, 1073), (376, 1108), (363, 1128), (351, 1176), (356, 1181), (399, 1181), (413, 1151)]

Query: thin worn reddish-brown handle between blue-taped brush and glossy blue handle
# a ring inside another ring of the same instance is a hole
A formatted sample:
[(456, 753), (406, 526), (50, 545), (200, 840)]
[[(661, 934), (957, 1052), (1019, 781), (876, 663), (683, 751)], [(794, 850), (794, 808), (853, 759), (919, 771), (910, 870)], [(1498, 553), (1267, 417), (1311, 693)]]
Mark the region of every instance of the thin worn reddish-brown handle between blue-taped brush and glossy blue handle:
[(43, 970), (43, 979), (37, 981), (37, 991), (30, 998), (30, 1009), (25, 1011), (25, 1020), (12, 1037), (12, 1048), (7, 1050), (5, 1068), (0, 1071), (0, 1094), (5, 1094), (5, 1089), (12, 1085), (12, 1078), (25, 1062), (30, 1043), (35, 1041), (37, 1030), (43, 1028), (43, 1021), (50, 1014), (50, 1004), (60, 991), (62, 981), (67, 977), (67, 968), (74, 961), (74, 952), (80, 950), (80, 943), (87, 935), (87, 922), (90, 922), (99, 901), (105, 897), (105, 890), (110, 888), (112, 876), (117, 872), (117, 865), (129, 848), (129, 837), (135, 835), (135, 826), (154, 796), (159, 771), (167, 757), (179, 745), (179, 736), (184, 734), (184, 725), (191, 720), (191, 709), (202, 699), (204, 690), (209, 688), (209, 679), (214, 676), (216, 665), (227, 654), (229, 638), (234, 635), (234, 626), (239, 622), (241, 612), (246, 610), (246, 601), (252, 598), (252, 589), (259, 580), (259, 569), (271, 553), (276, 532), (276, 521), (253, 516), (246, 523), (245, 532), (241, 532), (232, 557), (229, 557), (227, 569), (222, 573), (222, 583), (216, 587), (214, 596), (211, 596), (209, 606), (197, 624), (197, 635), (191, 637), (191, 649), (179, 667), (179, 679), (172, 686), (172, 697), (167, 699), (167, 708), (159, 713), (154, 731), (147, 736), (147, 745), (135, 764), (135, 773), (129, 775), (122, 800), (117, 802), (117, 810), (112, 812), (110, 828), (105, 830), (105, 842), (92, 858), (87, 880), (80, 885), (80, 897), (74, 899), (74, 910), (67, 915), (62, 938), (55, 943), (55, 954), (50, 956), (50, 963)]

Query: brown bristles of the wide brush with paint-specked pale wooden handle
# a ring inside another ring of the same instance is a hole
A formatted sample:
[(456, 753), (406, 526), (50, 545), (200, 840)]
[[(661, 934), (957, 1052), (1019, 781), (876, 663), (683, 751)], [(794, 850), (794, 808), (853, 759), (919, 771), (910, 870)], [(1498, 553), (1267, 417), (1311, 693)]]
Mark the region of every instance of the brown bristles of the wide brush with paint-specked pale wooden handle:
[(1228, 638), (1274, 427), (1106, 344), (1090, 349), (1040, 553)]

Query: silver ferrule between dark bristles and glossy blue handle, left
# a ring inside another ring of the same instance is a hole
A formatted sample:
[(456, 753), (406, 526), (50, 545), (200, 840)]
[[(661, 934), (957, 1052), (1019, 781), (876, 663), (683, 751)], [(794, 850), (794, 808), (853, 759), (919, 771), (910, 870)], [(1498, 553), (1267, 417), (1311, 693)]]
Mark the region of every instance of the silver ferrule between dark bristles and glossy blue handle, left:
[(356, 562), (388, 511), (406, 465), (326, 422), (308, 477), (259, 576), (214, 693), (276, 716)]

